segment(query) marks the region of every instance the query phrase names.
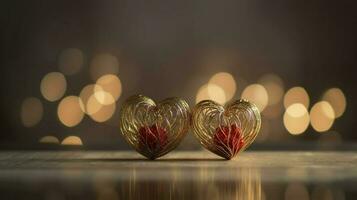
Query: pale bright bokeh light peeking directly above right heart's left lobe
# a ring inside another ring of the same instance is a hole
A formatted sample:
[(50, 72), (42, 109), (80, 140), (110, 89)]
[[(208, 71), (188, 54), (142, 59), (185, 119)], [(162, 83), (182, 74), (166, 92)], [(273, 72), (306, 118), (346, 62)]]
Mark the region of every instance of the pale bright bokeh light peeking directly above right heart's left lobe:
[(212, 100), (220, 104), (226, 103), (224, 90), (216, 84), (205, 84), (197, 92), (196, 103), (202, 100)]

